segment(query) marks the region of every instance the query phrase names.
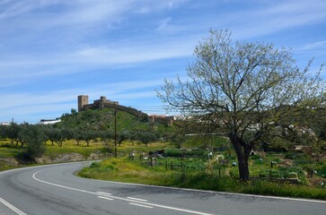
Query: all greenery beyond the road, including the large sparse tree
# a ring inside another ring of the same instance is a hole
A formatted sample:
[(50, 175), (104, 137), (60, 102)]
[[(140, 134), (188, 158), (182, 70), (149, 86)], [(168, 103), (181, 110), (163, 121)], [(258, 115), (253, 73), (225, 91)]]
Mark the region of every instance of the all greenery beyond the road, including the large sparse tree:
[(290, 49), (233, 42), (228, 30), (210, 30), (194, 56), (187, 81), (165, 80), (157, 92), (181, 113), (173, 125), (112, 108), (72, 109), (55, 125), (1, 125), (0, 170), (103, 159), (79, 175), (325, 200), (323, 65), (299, 68)]

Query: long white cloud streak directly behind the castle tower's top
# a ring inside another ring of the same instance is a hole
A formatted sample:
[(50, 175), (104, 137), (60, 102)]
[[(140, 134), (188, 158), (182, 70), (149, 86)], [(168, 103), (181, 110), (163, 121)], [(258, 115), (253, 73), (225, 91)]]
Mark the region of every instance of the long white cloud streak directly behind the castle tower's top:
[[(38, 93), (2, 92), (0, 93), (0, 98), (2, 100), (0, 110), (15, 107), (44, 107), (53, 104), (65, 104), (76, 100), (77, 96), (81, 94), (87, 94), (91, 99), (98, 99), (100, 96), (110, 96), (115, 99), (137, 98), (136, 95), (139, 97), (147, 97), (148, 95), (154, 95), (154, 87), (161, 83), (162, 80), (142, 80), (84, 86), (84, 88), (76, 89), (68, 88), (67, 90), (40, 91)], [(130, 93), (130, 91), (133, 91), (133, 93)]]

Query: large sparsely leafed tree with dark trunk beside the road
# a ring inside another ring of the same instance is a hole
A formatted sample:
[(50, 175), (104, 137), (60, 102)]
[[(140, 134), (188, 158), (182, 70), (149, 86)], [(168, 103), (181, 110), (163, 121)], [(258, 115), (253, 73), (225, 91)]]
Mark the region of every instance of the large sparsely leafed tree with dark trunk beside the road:
[[(191, 119), (200, 133), (225, 133), (238, 159), (239, 176), (249, 179), (254, 144), (293, 125), (298, 108), (322, 105), (324, 82), (300, 68), (290, 49), (233, 41), (228, 30), (210, 30), (198, 43), (186, 80), (165, 80), (158, 96), (168, 110)], [(324, 104), (324, 103), (323, 103)]]

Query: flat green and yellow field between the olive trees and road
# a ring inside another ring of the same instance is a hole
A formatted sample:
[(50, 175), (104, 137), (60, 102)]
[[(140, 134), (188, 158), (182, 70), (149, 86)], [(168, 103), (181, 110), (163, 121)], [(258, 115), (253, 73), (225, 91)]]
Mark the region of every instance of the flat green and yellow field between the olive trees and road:
[[(89, 147), (84, 142), (77, 145), (74, 141), (66, 141), (62, 147), (47, 142), (46, 149), (43, 157), (52, 159), (63, 154), (75, 153), (84, 159), (89, 159), (92, 153), (101, 154), (102, 161), (94, 161), (89, 168), (78, 173), (87, 178), (326, 200), (325, 160), (316, 161), (304, 153), (257, 152), (250, 159), (251, 181), (241, 183), (237, 179), (238, 168), (232, 165), (236, 157), (226, 150), (216, 151), (208, 157), (208, 151), (177, 150), (164, 142), (148, 146), (123, 142), (118, 145), (118, 158), (114, 159), (113, 142), (108, 145), (91, 142)], [(151, 159), (148, 152), (155, 150), (164, 150), (165, 157)], [(0, 170), (22, 167), (4, 163), (4, 159), (14, 158), (20, 151), (21, 147), (1, 141)], [(312, 176), (308, 175), (309, 172)], [(286, 179), (293, 177), (294, 173), (295, 179)]]

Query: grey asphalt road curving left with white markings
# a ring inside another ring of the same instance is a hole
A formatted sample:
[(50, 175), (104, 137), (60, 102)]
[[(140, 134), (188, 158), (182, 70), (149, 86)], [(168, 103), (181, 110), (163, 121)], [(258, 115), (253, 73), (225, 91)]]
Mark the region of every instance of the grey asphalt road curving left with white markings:
[(0, 172), (0, 214), (326, 214), (325, 201), (130, 185), (74, 176), (85, 165), (79, 162)]

